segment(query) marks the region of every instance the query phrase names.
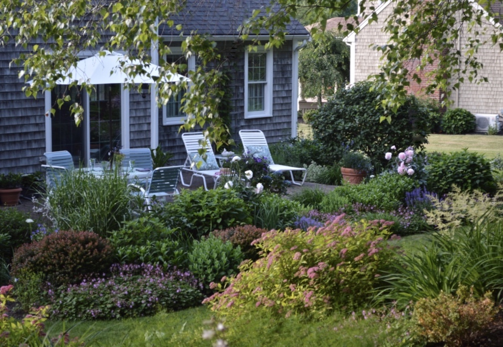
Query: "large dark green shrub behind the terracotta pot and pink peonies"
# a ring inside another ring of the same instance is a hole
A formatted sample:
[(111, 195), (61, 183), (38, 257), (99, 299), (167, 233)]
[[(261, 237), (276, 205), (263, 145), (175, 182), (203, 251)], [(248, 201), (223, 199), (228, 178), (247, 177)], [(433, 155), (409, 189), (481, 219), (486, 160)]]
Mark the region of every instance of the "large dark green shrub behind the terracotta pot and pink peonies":
[(380, 95), (370, 91), (369, 82), (357, 83), (350, 89), (338, 90), (336, 96), (318, 109), (312, 120), (314, 140), (323, 153), (323, 162), (339, 161), (351, 144), (352, 150), (361, 150), (374, 166), (385, 166), (384, 154), (391, 146), (423, 148), (428, 135), (428, 110), (414, 97), (409, 97), (391, 123), (381, 122), (384, 110)]

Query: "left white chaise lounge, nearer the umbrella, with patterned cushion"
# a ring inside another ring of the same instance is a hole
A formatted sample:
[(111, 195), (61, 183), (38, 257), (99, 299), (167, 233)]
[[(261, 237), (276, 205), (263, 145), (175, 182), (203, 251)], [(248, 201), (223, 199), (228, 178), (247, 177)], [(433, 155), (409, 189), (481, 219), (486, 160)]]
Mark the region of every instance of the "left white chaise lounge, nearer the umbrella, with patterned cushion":
[[(194, 176), (196, 176), (203, 179), (204, 189), (208, 190), (206, 177), (211, 177), (213, 179), (213, 189), (215, 189), (218, 184), (218, 179), (220, 178), (220, 167), (215, 158), (215, 153), (213, 153), (213, 148), (211, 148), (210, 141), (206, 139), (205, 150), (207, 157), (206, 160), (204, 160), (198, 152), (198, 150), (202, 148), (201, 141), (204, 141), (202, 132), (184, 133), (182, 134), (182, 140), (184, 141), (185, 150), (187, 151), (187, 159), (185, 160), (182, 170), (192, 172), (189, 184), (185, 183), (183, 175), (180, 174), (182, 185), (185, 187), (192, 186), (192, 181)], [(197, 168), (198, 162), (202, 162), (199, 168)]]

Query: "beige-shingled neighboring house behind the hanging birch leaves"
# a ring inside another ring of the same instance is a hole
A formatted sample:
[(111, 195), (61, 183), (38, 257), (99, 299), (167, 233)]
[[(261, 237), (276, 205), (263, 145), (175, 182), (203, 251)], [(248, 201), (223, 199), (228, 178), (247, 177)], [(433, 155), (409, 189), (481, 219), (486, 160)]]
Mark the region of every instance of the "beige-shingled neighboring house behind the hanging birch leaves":
[[(473, 3), (473, 6), (478, 6)], [(500, 3), (494, 6), (501, 7)], [(381, 3), (375, 10), (379, 20), (369, 24), (368, 19), (363, 20), (360, 25), (358, 34), (351, 33), (344, 41), (351, 47), (351, 72), (350, 82), (355, 83), (366, 80), (370, 74), (378, 73), (381, 66), (381, 53), (372, 48), (374, 45), (383, 45), (388, 41), (388, 34), (384, 33), (383, 23), (393, 8), (392, 2), (388, 1)], [(500, 13), (500, 9), (492, 9), (494, 13)], [(489, 31), (495, 27), (490, 21), (483, 24)], [(486, 35), (489, 39), (489, 34)], [(479, 37), (483, 40), (484, 37)], [(458, 41), (458, 48), (462, 50), (466, 44), (466, 35), (462, 35)], [(458, 90), (454, 90), (450, 96), (452, 108), (464, 108), (473, 114), (497, 115), (503, 109), (503, 54), (500, 53), (498, 46), (490, 44), (483, 45), (479, 48), (477, 54), (478, 60), (483, 64), (483, 70), (479, 71), (480, 75), (486, 76), (489, 81), (487, 83), (470, 83), (468, 78), (461, 83)], [(411, 62), (413, 64), (414, 62)], [(413, 66), (412, 66), (413, 67)], [(435, 66), (432, 66), (433, 69)], [(412, 70), (411, 68), (409, 68)], [(428, 82), (423, 75), (423, 86)], [(411, 82), (408, 88), (409, 92), (421, 93), (422, 85), (413, 84)], [(441, 91), (437, 91), (431, 98), (440, 101), (442, 98)]]

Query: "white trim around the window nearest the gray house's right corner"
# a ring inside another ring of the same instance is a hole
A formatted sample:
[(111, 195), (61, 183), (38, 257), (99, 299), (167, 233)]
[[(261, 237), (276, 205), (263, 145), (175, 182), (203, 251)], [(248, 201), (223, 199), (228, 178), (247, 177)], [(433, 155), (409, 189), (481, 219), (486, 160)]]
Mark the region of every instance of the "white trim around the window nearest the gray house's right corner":
[(251, 53), (267, 52), (266, 57), (266, 86), (264, 90), (264, 111), (248, 111), (248, 49), (244, 49), (244, 119), (264, 118), (273, 116), (273, 49), (267, 51), (263, 46)]

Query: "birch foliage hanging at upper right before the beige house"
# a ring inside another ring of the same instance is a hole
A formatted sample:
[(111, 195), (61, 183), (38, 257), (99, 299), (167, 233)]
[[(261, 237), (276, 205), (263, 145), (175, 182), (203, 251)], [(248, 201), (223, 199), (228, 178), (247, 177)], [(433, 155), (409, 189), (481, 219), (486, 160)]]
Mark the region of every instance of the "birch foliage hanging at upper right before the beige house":
[[(271, 33), (271, 45), (284, 39), (282, 30), (288, 23), (288, 15), (295, 17), (301, 9), (309, 7), (310, 16), (320, 22), (320, 28), (311, 31), (316, 39), (326, 26), (326, 8), (343, 11), (349, 4), (345, 0), (278, 0), (278, 3), (282, 11), (274, 11), (274, 6), (270, 6), (265, 12), (255, 12), (254, 20), (249, 23), (250, 32), (266, 28)], [(359, 3), (362, 16), (352, 17), (356, 24), (339, 28), (347, 29), (344, 33), (347, 35), (351, 31), (358, 33), (358, 24), (366, 19), (369, 23), (384, 23), (390, 39), (385, 45), (373, 47), (382, 53), (382, 68), (369, 77), (376, 82), (374, 88), (384, 92), (381, 105), (386, 116), (381, 120), (391, 121), (405, 100), (405, 87), (411, 80), (428, 83), (428, 93), (440, 90), (446, 96), (459, 88), (460, 83), (488, 80), (490, 76), (484, 76), (479, 60), (479, 49), (483, 45), (503, 49), (499, 25), (501, 0), (390, 0), (389, 3), (393, 11), (386, 17), (374, 12), (378, 2), (363, 0)], [(461, 37), (464, 39), (460, 40)], [(427, 68), (432, 69), (426, 74), (428, 81), (422, 81), (418, 72)]]

